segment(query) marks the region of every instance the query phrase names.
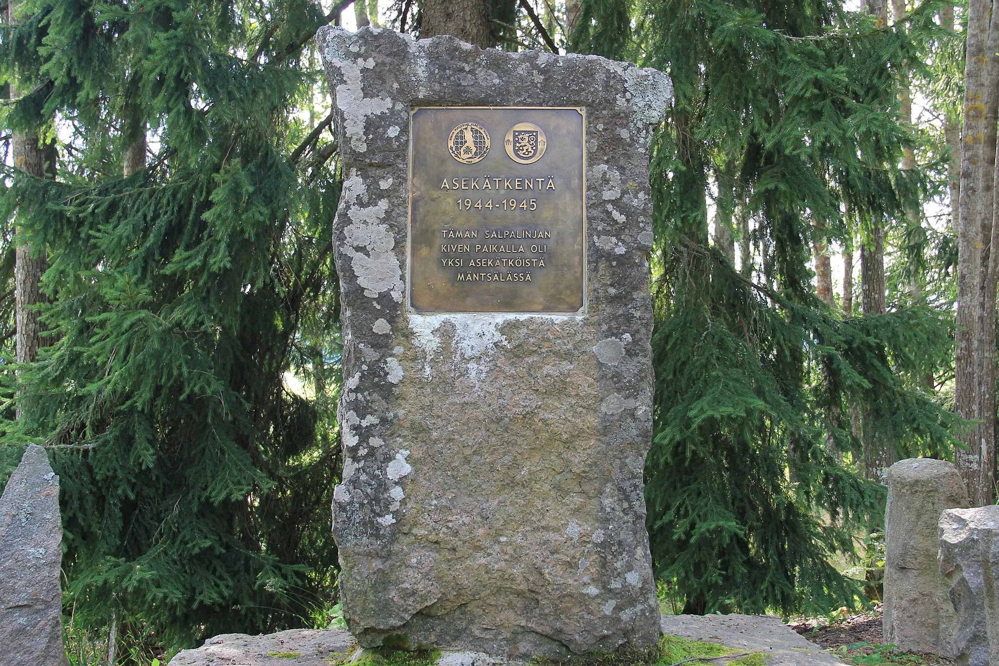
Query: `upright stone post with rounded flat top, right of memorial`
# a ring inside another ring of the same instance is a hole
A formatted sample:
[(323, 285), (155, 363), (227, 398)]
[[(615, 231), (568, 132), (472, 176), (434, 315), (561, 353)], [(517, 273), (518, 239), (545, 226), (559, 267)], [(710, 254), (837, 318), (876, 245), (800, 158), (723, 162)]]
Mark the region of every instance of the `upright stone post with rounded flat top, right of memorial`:
[(968, 505), (957, 468), (910, 458), (888, 468), (885, 509), (884, 641), (900, 650), (950, 655), (957, 616), (937, 561), (944, 509)]

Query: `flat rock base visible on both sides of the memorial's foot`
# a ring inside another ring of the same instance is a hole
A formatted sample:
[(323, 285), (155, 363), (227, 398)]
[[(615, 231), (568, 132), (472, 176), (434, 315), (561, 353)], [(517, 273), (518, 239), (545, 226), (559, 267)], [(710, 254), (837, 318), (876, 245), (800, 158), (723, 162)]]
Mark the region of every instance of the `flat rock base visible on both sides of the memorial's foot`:
[[(843, 663), (777, 617), (665, 615), (662, 629), (673, 636), (720, 643), (738, 652), (760, 651), (768, 657), (768, 666)], [(170, 666), (329, 666), (355, 645), (354, 637), (343, 629), (292, 629), (264, 636), (223, 634), (208, 639), (200, 648), (179, 653)]]

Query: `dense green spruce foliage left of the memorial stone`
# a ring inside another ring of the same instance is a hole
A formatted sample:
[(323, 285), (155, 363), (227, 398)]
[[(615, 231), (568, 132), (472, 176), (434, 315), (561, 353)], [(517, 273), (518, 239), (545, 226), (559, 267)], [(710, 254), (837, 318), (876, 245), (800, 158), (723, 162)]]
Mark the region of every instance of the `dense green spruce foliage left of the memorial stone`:
[[(19, 7), (31, 18), (5, 27), (3, 75), (46, 92), (7, 122), (40, 100), (72, 138), (56, 182), (7, 174), (18, 241), (50, 268), (47, 346), (5, 373), (25, 417), (2, 425), (4, 448), (55, 451), (67, 606), (168, 646), (308, 626), (337, 556), (340, 180), (328, 121), (306, 120), (308, 44), (335, 15), (308, 0)], [(146, 127), (150, 164), (123, 178)]]

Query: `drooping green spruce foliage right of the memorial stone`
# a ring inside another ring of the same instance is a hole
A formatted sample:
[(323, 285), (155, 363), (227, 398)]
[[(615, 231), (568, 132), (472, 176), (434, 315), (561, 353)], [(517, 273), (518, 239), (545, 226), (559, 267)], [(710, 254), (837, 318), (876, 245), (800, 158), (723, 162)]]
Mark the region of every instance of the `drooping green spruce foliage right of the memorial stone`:
[[(949, 362), (952, 320), (843, 319), (814, 294), (810, 243), (918, 201), (920, 175), (897, 168), (912, 139), (896, 97), (917, 46), (835, 1), (646, 0), (628, 21), (618, 3), (583, 7), (574, 45), (636, 55), (675, 90), (651, 166), (656, 572), (684, 612), (853, 605), (829, 555), (879, 522), (883, 489), (857, 475), (847, 414), (899, 457), (950, 453), (956, 419), (920, 377)], [(609, 25), (635, 42), (602, 37)], [(711, 200), (749, 221), (752, 267), (709, 243)]]

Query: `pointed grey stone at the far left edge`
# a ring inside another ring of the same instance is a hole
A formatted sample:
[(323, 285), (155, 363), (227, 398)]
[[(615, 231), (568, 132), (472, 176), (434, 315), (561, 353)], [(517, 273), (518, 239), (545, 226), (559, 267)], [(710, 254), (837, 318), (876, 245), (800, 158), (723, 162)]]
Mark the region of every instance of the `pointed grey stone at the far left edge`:
[(67, 664), (62, 642), (59, 477), (28, 446), (0, 498), (0, 645), (5, 666)]

